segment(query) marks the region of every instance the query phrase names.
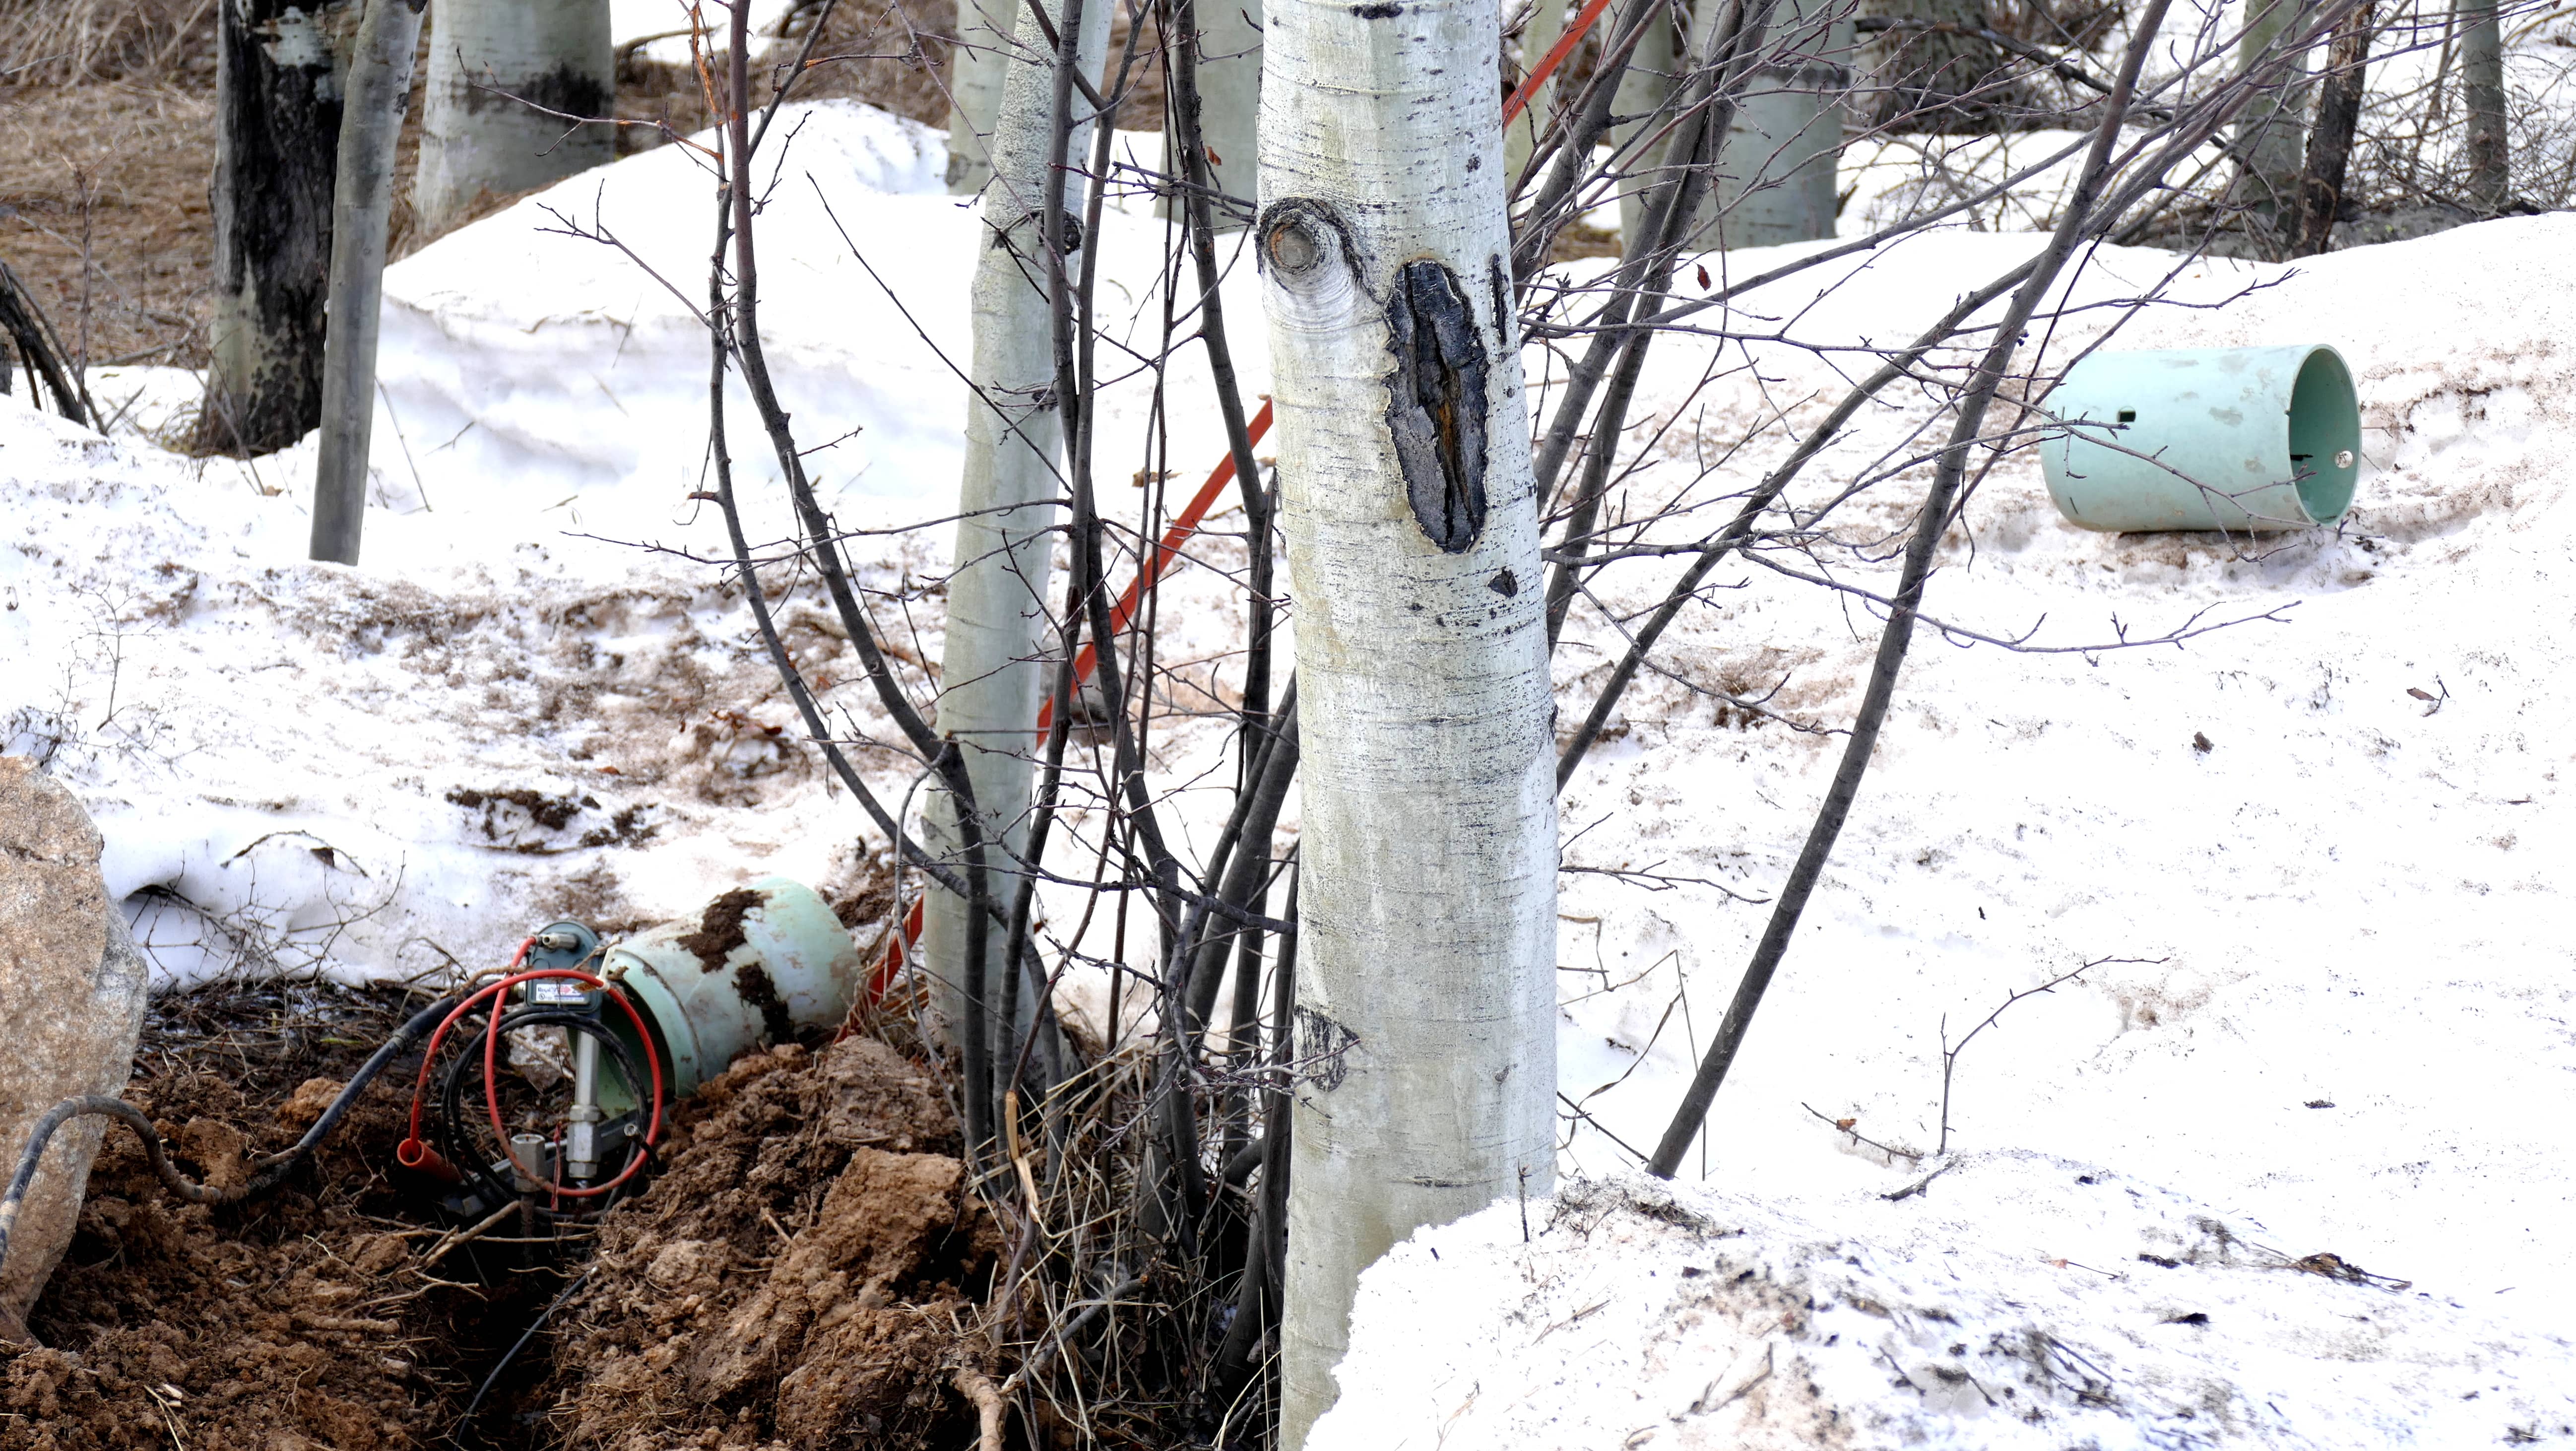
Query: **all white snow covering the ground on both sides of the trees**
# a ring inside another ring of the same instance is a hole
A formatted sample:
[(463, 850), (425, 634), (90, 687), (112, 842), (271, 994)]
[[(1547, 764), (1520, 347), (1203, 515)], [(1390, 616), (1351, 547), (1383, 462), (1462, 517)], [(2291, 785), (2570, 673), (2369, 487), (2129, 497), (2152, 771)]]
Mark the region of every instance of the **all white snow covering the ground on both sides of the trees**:
[[(881, 624), (938, 660), (948, 528), (902, 526), (938, 521), (956, 487), (963, 399), (938, 351), (963, 345), (971, 219), (935, 183), (938, 137), (848, 103), (788, 126), (762, 232), (770, 356), (804, 443), (829, 443), (817, 469), (832, 508), (889, 531), (858, 541)], [(0, 399), (0, 732), (90, 802), (111, 884), (165, 972), (484, 966), (551, 915), (629, 925), (768, 871), (853, 879), (853, 843), (873, 832), (793, 729), (773, 729), (791, 714), (706, 562), (721, 528), (688, 500), (706, 443), (690, 312), (708, 191), (683, 147), (662, 147), (389, 271), (361, 570), (304, 562), (312, 443), (255, 466), (149, 443), (183, 376), (100, 379), (100, 397), (134, 397), (111, 441)], [(1113, 327), (1149, 340), (1162, 224), (1121, 204), (1100, 245), (1128, 309)], [(1741, 299), (1731, 322), (1886, 343), (2035, 245), (1927, 235)], [(2133, 296), (2174, 268), (2102, 250), (2076, 294)], [(1249, 281), (1226, 299), (1260, 392)], [(1677, 1191), (1680, 1214), (1620, 1209), (1638, 1191), (1615, 1175), (1662, 1131), (1762, 928), (1747, 899), (1785, 874), (1839, 740), (1641, 683), (1564, 812), (1569, 866), (1669, 879), (1564, 879), (1561, 1085), (1584, 1113), (1566, 1121), (1564, 1165), (1613, 1178), (1535, 1198), (1528, 1250), (1517, 1206), (1399, 1250), (1355, 1327), (1381, 1350), (1352, 1358), (1355, 1399), (1316, 1446), (1432, 1446), (1450, 1415), (1455, 1446), (1687, 1446), (1713, 1433), (1669, 1420), (1690, 1405), (1708, 1428), (1770, 1417), (1775, 1399), (1790, 1415), (1793, 1366), (1852, 1446), (2375, 1446), (2391, 1428), (2460, 1446), (2576, 1423), (2545, 1399), (2576, 1384), (2555, 1338), (2576, 1291), (2576, 961), (2561, 928), (2576, 912), (2558, 871), (2576, 688), (2555, 588), (2576, 552), (2576, 219), (2298, 268), (2192, 263), (2172, 294), (2202, 307), (2079, 312), (2048, 348), (2117, 317), (2123, 348), (2339, 345), (2367, 425), (2352, 521), (2259, 557), (2094, 536), (2056, 518), (2025, 456), (1981, 487), (1927, 608), (2004, 637), (2038, 624), (2035, 644), (2159, 634), (2202, 608), (2280, 619), (2136, 652), (1919, 639), (1808, 928), (1692, 1155), (1685, 1178), (1708, 1183)], [(1716, 482), (1695, 485), (1700, 459), (1765, 418), (1821, 415), (1829, 363), (1783, 343), (1659, 343), (1641, 415), (1664, 461), (1631, 479), (1625, 508), (1741, 487), (1777, 430)], [(1175, 399), (1206, 397), (1195, 351), (1170, 379)], [(1149, 379), (1110, 392), (1105, 459), (1144, 456), (1149, 405)], [(729, 412), (760, 490), (775, 469), (739, 397)], [(1922, 399), (1865, 412), (1811, 497), (1924, 418)], [(1213, 410), (1175, 412), (1172, 487), (1216, 456)], [(1860, 505), (1852, 526), (1893, 510)], [(775, 508), (765, 518), (778, 533)], [(1651, 601), (1659, 570), (1610, 575), (1607, 603)], [(1868, 608), (1762, 570), (1713, 582), (1718, 603), (1667, 637), (1672, 670), (1734, 696), (1780, 686), (1767, 709), (1839, 727), (1875, 639)], [(837, 624), (804, 593), (786, 611), (796, 649), (837, 678)], [(1239, 606), (1185, 570), (1164, 621), (1175, 649), (1208, 652)], [(1571, 719), (1610, 647), (1579, 608), (1558, 655)], [(881, 724), (863, 691), (829, 698)], [(1159, 729), (1159, 776), (1195, 778), (1221, 737)], [(871, 768), (891, 796), (912, 781), (891, 755)], [(1203, 827), (1195, 796), (1175, 812), (1182, 832)], [(1940, 1137), (1945, 1026), (1955, 1041), (2007, 992), (2092, 959), (2115, 961), (2014, 1005), (1960, 1057), (1955, 1168), (1924, 1196), (1880, 1198), (1937, 1168), (1922, 1155)], [(2414, 1289), (2221, 1255), (2202, 1216), (2226, 1245), (2334, 1253)], [(1649, 1271), (1718, 1260), (1759, 1273), (1710, 1302), (1708, 1325), (1638, 1291)], [(1540, 1340), (1605, 1296), (1613, 1309)], [(1772, 1307), (1803, 1327), (1762, 1327)], [(2166, 1312), (2210, 1325), (2166, 1327)], [(2385, 1320), (2385, 1338), (2354, 1340), (2354, 1314)], [(2092, 1371), (2035, 1356), (2032, 1335)], [(1754, 1343), (1772, 1345), (1772, 1389), (1713, 1405), (1731, 1389), (1713, 1379)], [(1396, 1345), (1512, 1394), (1574, 1374), (1582, 1348), (1582, 1366), (1651, 1405), (1566, 1392), (1558, 1428), (1528, 1430), (1522, 1402), (1461, 1412), (1450, 1381), (1396, 1374)], [(2087, 1374), (2115, 1405), (2087, 1402)], [(2213, 1384), (2228, 1394), (2210, 1399)], [(2048, 1417), (2025, 1430), (2014, 1402), (1986, 1407), (2002, 1387)], [(1806, 1443), (1785, 1428), (1780, 1443)], [(1623, 1441), (1633, 1430), (1656, 1438)]]

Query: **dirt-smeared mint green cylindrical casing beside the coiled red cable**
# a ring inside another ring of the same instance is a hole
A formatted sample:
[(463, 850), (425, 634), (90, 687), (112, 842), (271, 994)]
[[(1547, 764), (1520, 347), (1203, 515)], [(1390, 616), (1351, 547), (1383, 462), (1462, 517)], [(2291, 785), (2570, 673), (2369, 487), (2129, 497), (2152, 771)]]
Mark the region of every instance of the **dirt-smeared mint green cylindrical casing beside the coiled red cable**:
[(747, 1049), (837, 1028), (866, 979), (850, 930), (811, 887), (786, 876), (726, 892), (693, 923), (611, 946), (600, 972), (652, 1023), (672, 1098), (688, 1098)]

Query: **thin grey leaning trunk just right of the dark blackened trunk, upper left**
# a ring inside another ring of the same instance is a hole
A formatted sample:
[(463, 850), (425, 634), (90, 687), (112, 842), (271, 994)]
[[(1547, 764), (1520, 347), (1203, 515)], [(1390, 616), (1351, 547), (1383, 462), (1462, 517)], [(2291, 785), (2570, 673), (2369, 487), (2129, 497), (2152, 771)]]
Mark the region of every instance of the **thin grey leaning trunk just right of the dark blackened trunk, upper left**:
[(376, 425), (376, 327), (384, 312), (384, 237), (394, 216), (394, 142), (412, 98), (420, 8), (368, 0), (348, 62), (340, 170), (330, 209), (330, 330), (322, 335), (322, 461), (314, 469), (312, 557), (358, 562), (366, 523), (366, 451)]

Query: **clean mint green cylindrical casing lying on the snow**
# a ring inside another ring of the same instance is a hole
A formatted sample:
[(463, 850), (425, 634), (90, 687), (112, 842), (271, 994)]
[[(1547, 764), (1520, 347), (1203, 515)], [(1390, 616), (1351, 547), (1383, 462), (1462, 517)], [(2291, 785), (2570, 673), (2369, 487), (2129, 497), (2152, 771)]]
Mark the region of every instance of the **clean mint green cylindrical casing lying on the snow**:
[(2040, 472), (2076, 528), (2308, 528), (2362, 472), (2352, 369), (2316, 343), (2094, 353), (2045, 407), (2066, 430)]

